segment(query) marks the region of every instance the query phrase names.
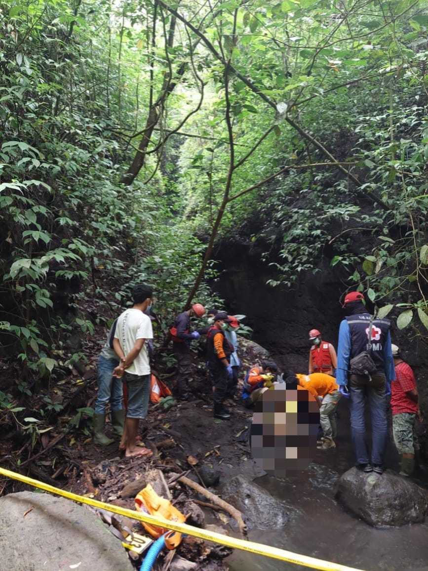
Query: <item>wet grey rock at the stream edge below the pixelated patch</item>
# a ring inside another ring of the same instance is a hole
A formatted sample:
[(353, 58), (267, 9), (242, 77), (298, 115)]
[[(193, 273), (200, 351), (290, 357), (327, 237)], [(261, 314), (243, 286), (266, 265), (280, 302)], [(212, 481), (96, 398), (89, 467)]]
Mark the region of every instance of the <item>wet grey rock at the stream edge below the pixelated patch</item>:
[(289, 521), (284, 503), (244, 476), (227, 482), (221, 497), (242, 512), (249, 528), (280, 529)]

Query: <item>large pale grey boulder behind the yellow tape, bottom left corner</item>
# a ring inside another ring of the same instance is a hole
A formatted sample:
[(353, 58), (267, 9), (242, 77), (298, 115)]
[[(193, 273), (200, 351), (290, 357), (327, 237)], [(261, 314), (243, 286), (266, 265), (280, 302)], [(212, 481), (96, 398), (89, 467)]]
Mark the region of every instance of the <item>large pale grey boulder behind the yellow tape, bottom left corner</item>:
[(0, 498), (0, 553), (5, 571), (133, 569), (120, 541), (95, 513), (35, 492)]

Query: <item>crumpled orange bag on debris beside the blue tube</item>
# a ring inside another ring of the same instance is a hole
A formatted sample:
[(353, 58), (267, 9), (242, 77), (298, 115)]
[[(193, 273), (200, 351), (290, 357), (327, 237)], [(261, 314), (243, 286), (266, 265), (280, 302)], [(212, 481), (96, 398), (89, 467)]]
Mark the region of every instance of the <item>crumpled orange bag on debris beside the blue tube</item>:
[[(169, 500), (158, 496), (150, 484), (147, 484), (146, 488), (142, 489), (135, 496), (135, 507), (138, 512), (147, 512), (152, 516), (164, 517), (165, 520), (178, 521), (180, 523), (184, 523), (186, 520), (185, 516)], [(168, 531), (167, 528), (159, 528), (146, 524), (144, 521), (142, 524), (144, 529), (155, 539), (158, 539), (158, 537)], [(175, 549), (180, 545), (180, 542), (181, 533), (171, 532), (171, 534), (168, 534), (168, 537), (165, 537), (165, 545), (168, 549)]]

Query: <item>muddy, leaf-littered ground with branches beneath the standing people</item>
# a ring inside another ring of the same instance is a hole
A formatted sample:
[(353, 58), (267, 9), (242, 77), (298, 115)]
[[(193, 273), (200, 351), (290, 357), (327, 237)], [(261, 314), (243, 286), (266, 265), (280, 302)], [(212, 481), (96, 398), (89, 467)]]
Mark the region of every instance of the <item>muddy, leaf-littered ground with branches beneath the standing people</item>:
[[(251, 341), (243, 340), (241, 348), (244, 369), (265, 355), (264, 350)], [(97, 344), (88, 341), (86, 351), (91, 356), (84, 370), (71, 369), (67, 376), (51, 381), (51, 386), (45, 389), (46, 394), (48, 391), (54, 394), (54, 402), (63, 407), (57, 415), (52, 411), (50, 431), (36, 435), (33, 444), (28, 435), (24, 437), (17, 431), (13, 421), (5, 425), (9, 438), (0, 443), (3, 466), (59, 488), (130, 509), (135, 509), (134, 497), (150, 482), (146, 475), (154, 474), (153, 469), (159, 469), (166, 482), (174, 475), (184, 474), (215, 494), (219, 493), (218, 486), (222, 482), (239, 473), (245, 473), (249, 478), (261, 475), (251, 459), (248, 441), (245, 441), (252, 413), (236, 397), (225, 403), (231, 410), (231, 419), (214, 419), (211, 387), (201, 362), (201, 352), (197, 350), (193, 353), (193, 375), (189, 384), (192, 400), (176, 402), (167, 410), (162, 404), (150, 404), (148, 417), (140, 425), (142, 441), (153, 451), (150, 459), (127, 459), (119, 452), (118, 440), (108, 447), (95, 445), (91, 439), (90, 408), (97, 388)], [(168, 361), (158, 357), (154, 368), (160, 379), (173, 389), (173, 369), (171, 372), (171, 368), (162, 365), (163, 362)], [(41, 391), (32, 403), (32, 414), (36, 418), (41, 416), (45, 406), (43, 399), (44, 392)], [(108, 420), (106, 433), (113, 436)], [(215, 487), (210, 487), (212, 484)], [(3, 494), (22, 489), (25, 486), (19, 482), (0, 480)], [(169, 490), (172, 502), (179, 510), (185, 514), (193, 512), (187, 520), (192, 525), (217, 525), (215, 529), (219, 532), (237, 534), (235, 521), (223, 510), (196, 504), (195, 513), (192, 500), (212, 505), (207, 498), (179, 482), (169, 485)], [(139, 522), (125, 521), (124, 524), (144, 533)], [(185, 538), (177, 549), (177, 556), (212, 571), (227, 569), (222, 559), (230, 553), (230, 549), (191, 537)]]

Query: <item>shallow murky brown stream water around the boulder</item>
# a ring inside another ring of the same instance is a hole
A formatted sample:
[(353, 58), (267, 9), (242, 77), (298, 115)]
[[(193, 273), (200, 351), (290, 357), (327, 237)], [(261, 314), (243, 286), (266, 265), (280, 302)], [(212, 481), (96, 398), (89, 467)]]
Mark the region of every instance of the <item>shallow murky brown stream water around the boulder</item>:
[[(334, 500), (337, 478), (353, 463), (348, 405), (342, 401), (336, 449), (317, 451), (306, 471), (290, 472), (286, 478), (263, 476), (255, 480), (272, 496), (284, 501), (284, 509), (289, 506), (293, 515), (284, 528), (252, 529), (249, 538), (366, 571), (428, 571), (426, 523), (375, 529), (347, 513)], [(391, 468), (397, 466), (392, 445), (387, 451), (386, 464)], [(305, 569), (238, 550), (227, 561), (231, 571)]]

